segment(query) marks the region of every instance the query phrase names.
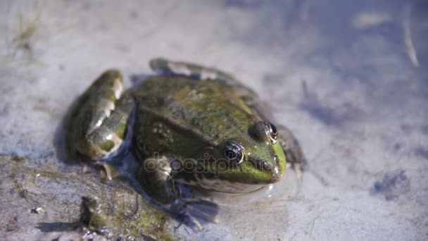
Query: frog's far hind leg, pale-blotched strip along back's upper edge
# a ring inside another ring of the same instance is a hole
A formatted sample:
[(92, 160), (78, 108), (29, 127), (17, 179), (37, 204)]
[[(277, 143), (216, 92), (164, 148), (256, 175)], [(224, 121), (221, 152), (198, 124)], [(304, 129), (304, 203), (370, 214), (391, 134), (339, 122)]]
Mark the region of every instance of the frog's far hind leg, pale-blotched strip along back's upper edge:
[(248, 87), (239, 82), (233, 75), (225, 73), (216, 68), (209, 68), (200, 66), (194, 63), (187, 63), (182, 61), (170, 61), (166, 58), (153, 58), (150, 61), (150, 67), (156, 73), (168, 73), (173, 75), (185, 75), (199, 80), (213, 80), (222, 82), (234, 88), (237, 94), (244, 97), (244, 99), (254, 99), (257, 94)]

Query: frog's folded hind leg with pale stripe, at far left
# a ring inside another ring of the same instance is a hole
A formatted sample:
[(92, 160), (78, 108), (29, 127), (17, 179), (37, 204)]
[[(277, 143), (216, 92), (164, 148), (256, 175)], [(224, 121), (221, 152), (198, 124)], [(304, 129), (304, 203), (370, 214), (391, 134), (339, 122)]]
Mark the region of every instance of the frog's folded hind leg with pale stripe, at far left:
[(70, 118), (69, 146), (101, 163), (111, 178), (112, 169), (101, 160), (120, 154), (132, 109), (130, 93), (122, 94), (122, 74), (107, 70), (77, 100)]

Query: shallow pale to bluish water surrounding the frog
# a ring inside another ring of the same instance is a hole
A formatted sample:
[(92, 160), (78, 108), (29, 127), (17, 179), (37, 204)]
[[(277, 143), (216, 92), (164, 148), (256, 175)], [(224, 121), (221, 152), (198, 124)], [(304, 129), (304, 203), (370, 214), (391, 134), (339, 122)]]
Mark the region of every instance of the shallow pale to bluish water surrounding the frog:
[[(216, 197), (221, 222), (188, 237), (180, 226), (180, 237), (428, 238), (424, 1), (1, 1), (0, 11), (1, 156), (61, 166), (58, 126), (99, 73), (147, 75), (156, 56), (192, 61), (255, 89), (310, 168), (300, 188), (287, 171), (256, 194)], [(0, 219), (26, 214), (0, 184)], [(51, 237), (33, 221), (0, 237)]]

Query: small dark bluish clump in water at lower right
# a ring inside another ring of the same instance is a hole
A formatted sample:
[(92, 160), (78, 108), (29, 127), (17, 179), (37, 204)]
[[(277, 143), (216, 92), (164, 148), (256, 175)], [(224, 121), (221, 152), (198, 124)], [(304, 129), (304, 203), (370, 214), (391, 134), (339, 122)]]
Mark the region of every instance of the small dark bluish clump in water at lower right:
[(387, 201), (408, 192), (410, 192), (410, 179), (403, 170), (385, 173), (382, 180), (375, 182), (370, 190), (370, 194), (382, 194)]

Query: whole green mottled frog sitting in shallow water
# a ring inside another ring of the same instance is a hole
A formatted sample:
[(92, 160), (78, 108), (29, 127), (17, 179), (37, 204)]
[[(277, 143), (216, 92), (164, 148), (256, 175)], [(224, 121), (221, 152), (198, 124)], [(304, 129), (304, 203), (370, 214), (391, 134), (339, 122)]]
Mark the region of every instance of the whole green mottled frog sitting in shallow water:
[[(234, 76), (194, 63), (155, 58), (153, 75), (123, 92), (107, 70), (82, 94), (69, 142), (105, 166), (132, 149), (135, 177), (156, 204), (175, 214), (215, 221), (186, 187), (252, 192), (280, 180), (286, 162), (301, 173), (303, 154), (287, 128), (263, 113), (258, 95)], [(195, 211), (196, 210), (196, 211)]]

